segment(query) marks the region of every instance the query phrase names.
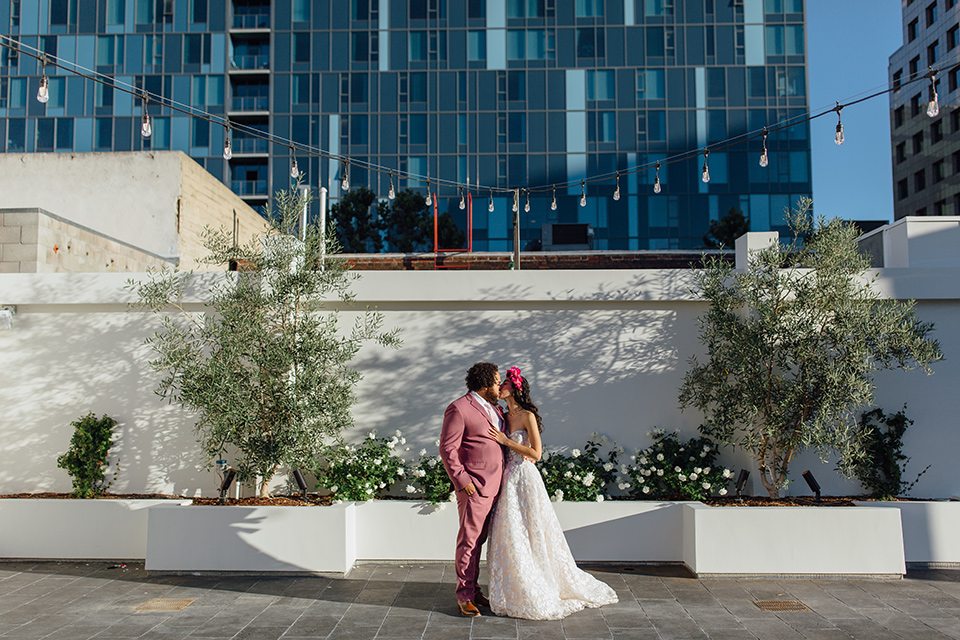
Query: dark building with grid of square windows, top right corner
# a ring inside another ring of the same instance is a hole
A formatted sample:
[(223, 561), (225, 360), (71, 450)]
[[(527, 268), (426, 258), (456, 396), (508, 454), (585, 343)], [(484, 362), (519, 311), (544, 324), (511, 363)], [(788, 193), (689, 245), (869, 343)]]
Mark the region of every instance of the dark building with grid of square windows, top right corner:
[(893, 217), (960, 215), (960, 3), (902, 3), (904, 44), (889, 63)]

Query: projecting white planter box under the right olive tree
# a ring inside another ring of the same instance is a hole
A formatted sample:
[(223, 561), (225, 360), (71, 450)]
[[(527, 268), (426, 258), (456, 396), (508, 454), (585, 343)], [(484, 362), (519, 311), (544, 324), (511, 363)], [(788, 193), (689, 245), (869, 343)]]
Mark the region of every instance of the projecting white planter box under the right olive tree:
[(906, 573), (896, 509), (683, 508), (683, 562), (698, 577)]

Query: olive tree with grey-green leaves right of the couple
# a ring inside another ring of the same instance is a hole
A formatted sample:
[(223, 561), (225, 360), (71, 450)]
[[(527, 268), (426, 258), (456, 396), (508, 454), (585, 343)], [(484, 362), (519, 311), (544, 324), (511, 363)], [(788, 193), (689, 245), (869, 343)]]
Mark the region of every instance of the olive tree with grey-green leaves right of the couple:
[[(912, 301), (880, 296), (857, 251), (857, 231), (814, 221), (810, 201), (788, 214), (794, 238), (753, 252), (743, 271), (713, 257), (697, 271), (710, 303), (700, 320), (703, 362), (693, 357), (680, 404), (705, 416), (704, 434), (744, 448), (771, 497), (794, 455), (839, 454), (851, 473), (863, 456), (856, 413), (873, 403), (873, 374), (942, 358)], [(805, 242), (803, 241), (805, 239)]]

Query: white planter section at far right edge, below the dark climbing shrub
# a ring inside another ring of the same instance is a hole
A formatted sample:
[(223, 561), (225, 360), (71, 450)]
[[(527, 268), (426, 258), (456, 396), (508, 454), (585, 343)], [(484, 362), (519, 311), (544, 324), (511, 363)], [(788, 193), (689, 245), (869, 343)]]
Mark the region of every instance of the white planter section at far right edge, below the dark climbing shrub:
[(960, 502), (858, 502), (897, 509), (903, 523), (903, 553), (912, 564), (960, 564)]

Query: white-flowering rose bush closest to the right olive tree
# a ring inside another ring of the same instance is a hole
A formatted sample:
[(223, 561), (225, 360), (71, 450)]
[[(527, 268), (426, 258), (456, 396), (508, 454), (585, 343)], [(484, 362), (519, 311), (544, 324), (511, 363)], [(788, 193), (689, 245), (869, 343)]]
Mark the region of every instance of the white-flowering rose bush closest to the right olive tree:
[(631, 456), (633, 464), (621, 467), (629, 481), (620, 484), (639, 500), (704, 500), (727, 494), (733, 477), (716, 464), (717, 445), (709, 438), (680, 442), (676, 433), (654, 429), (653, 444)]

